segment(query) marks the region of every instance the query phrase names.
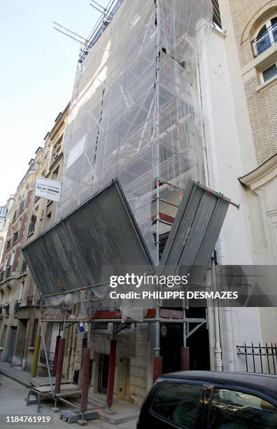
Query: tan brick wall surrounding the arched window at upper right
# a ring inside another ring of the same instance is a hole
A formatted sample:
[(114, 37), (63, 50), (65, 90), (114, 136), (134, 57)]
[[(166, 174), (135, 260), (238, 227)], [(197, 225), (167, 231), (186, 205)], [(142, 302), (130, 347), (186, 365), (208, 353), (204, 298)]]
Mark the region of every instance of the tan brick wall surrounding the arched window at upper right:
[[(222, 3), (224, 0), (221, 0)], [(255, 32), (272, 15), (277, 16), (277, 0), (228, 0), (232, 12), (232, 21), (239, 49), (241, 67), (254, 67), (254, 55), (251, 41)], [(224, 29), (224, 21), (222, 22)], [(277, 60), (277, 57), (276, 57)], [(251, 73), (244, 76), (246, 100), (253, 137), (257, 163), (261, 165), (277, 152), (277, 81), (267, 88), (258, 90), (261, 85), (260, 74)]]

